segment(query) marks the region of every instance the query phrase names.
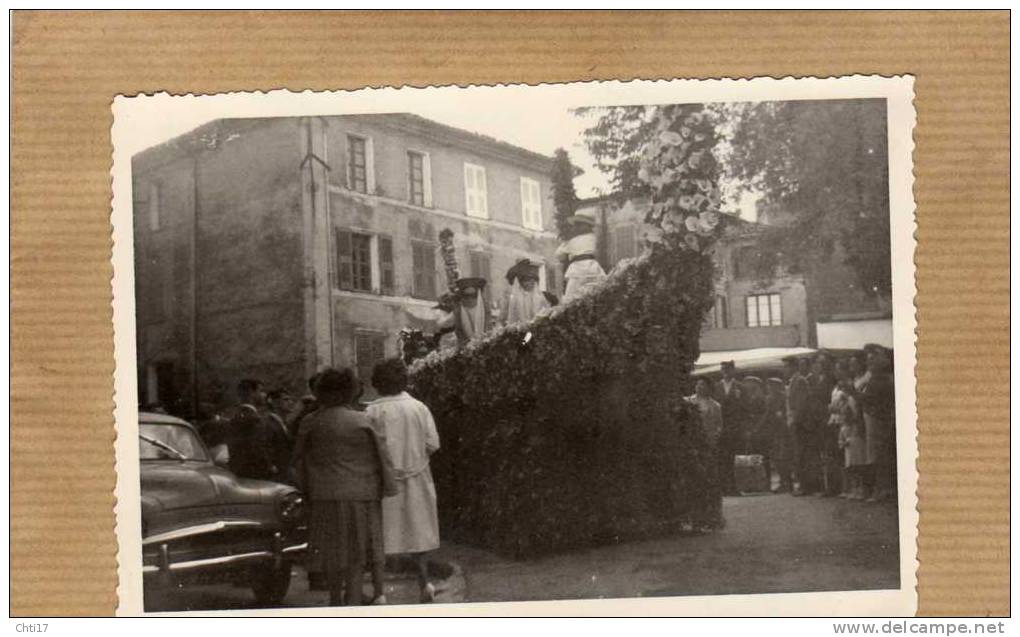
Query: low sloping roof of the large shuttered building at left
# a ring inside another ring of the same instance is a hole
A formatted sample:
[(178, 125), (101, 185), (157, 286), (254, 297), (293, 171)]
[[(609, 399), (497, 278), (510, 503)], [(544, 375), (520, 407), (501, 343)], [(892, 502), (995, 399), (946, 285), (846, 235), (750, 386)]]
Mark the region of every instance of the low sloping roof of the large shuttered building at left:
[[(414, 132), (448, 144), (487, 152), (501, 159), (530, 165), (540, 172), (551, 172), (554, 159), (548, 155), (514, 146), (496, 138), (471, 132), (448, 124), (426, 119), (414, 113), (363, 113), (324, 115), (326, 119), (342, 118), (361, 120), (375, 125), (398, 128)], [(287, 117), (251, 117), (251, 118), (220, 118), (213, 119), (201, 126), (167, 140), (162, 144), (147, 148), (132, 158), (141, 165), (153, 165), (186, 157), (199, 150), (212, 150), (219, 144), (228, 141), (233, 135), (269, 125), (273, 122), (300, 119), (299, 116)]]

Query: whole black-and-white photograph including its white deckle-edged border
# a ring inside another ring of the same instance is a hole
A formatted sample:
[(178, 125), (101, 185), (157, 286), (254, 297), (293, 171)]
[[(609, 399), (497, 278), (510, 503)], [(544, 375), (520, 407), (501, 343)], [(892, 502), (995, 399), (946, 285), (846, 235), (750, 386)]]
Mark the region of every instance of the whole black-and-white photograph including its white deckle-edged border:
[(119, 97), (120, 613), (912, 613), (911, 102)]

